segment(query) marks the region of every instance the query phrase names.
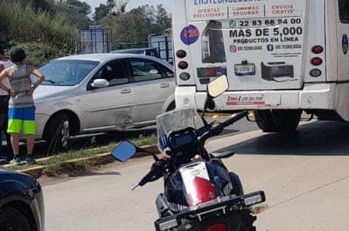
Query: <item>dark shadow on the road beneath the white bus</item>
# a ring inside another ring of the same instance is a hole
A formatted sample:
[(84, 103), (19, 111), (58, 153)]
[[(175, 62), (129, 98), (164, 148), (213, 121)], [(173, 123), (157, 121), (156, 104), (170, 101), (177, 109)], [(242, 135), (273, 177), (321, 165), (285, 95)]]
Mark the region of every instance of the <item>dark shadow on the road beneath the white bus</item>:
[(226, 147), (236, 154), (349, 156), (349, 123), (312, 122), (291, 133), (264, 134)]

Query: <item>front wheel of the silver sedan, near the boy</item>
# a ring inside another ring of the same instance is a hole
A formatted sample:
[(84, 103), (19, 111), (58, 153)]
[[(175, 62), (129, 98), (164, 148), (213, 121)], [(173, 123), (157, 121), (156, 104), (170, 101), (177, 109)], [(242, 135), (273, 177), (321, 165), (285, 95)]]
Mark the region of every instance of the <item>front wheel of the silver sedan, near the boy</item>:
[(57, 153), (68, 149), (71, 122), (67, 114), (55, 114), (47, 125), (48, 152)]

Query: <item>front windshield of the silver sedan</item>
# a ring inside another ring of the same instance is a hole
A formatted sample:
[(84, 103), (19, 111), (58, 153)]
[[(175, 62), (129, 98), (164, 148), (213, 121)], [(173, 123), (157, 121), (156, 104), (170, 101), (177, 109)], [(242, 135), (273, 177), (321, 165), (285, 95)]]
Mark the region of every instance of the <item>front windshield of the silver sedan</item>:
[(55, 60), (46, 63), (38, 70), (45, 75), (43, 85), (75, 86), (98, 64), (85, 60)]

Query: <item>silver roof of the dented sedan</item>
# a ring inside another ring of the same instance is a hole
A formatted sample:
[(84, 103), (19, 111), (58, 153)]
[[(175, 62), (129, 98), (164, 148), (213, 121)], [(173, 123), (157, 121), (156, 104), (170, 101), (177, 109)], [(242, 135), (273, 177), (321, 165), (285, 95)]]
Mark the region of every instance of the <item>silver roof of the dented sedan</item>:
[(95, 61), (95, 62), (108, 62), (115, 59), (122, 58), (143, 58), (148, 60), (154, 60), (157, 63), (161, 63), (162, 65), (167, 66), (167, 68), (173, 69), (172, 65), (165, 62), (164, 60), (160, 60), (159, 58), (155, 58), (148, 55), (136, 55), (130, 53), (93, 53), (93, 54), (84, 54), (84, 55), (71, 55), (62, 58), (58, 58), (56, 60), (85, 60), (85, 61)]

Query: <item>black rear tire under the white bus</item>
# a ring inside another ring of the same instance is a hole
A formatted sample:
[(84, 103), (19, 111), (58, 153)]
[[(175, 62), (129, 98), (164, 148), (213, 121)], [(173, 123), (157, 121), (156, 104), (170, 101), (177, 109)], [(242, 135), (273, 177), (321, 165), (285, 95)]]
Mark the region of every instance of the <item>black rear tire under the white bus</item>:
[(301, 121), (302, 110), (256, 110), (258, 127), (264, 132), (294, 131)]

